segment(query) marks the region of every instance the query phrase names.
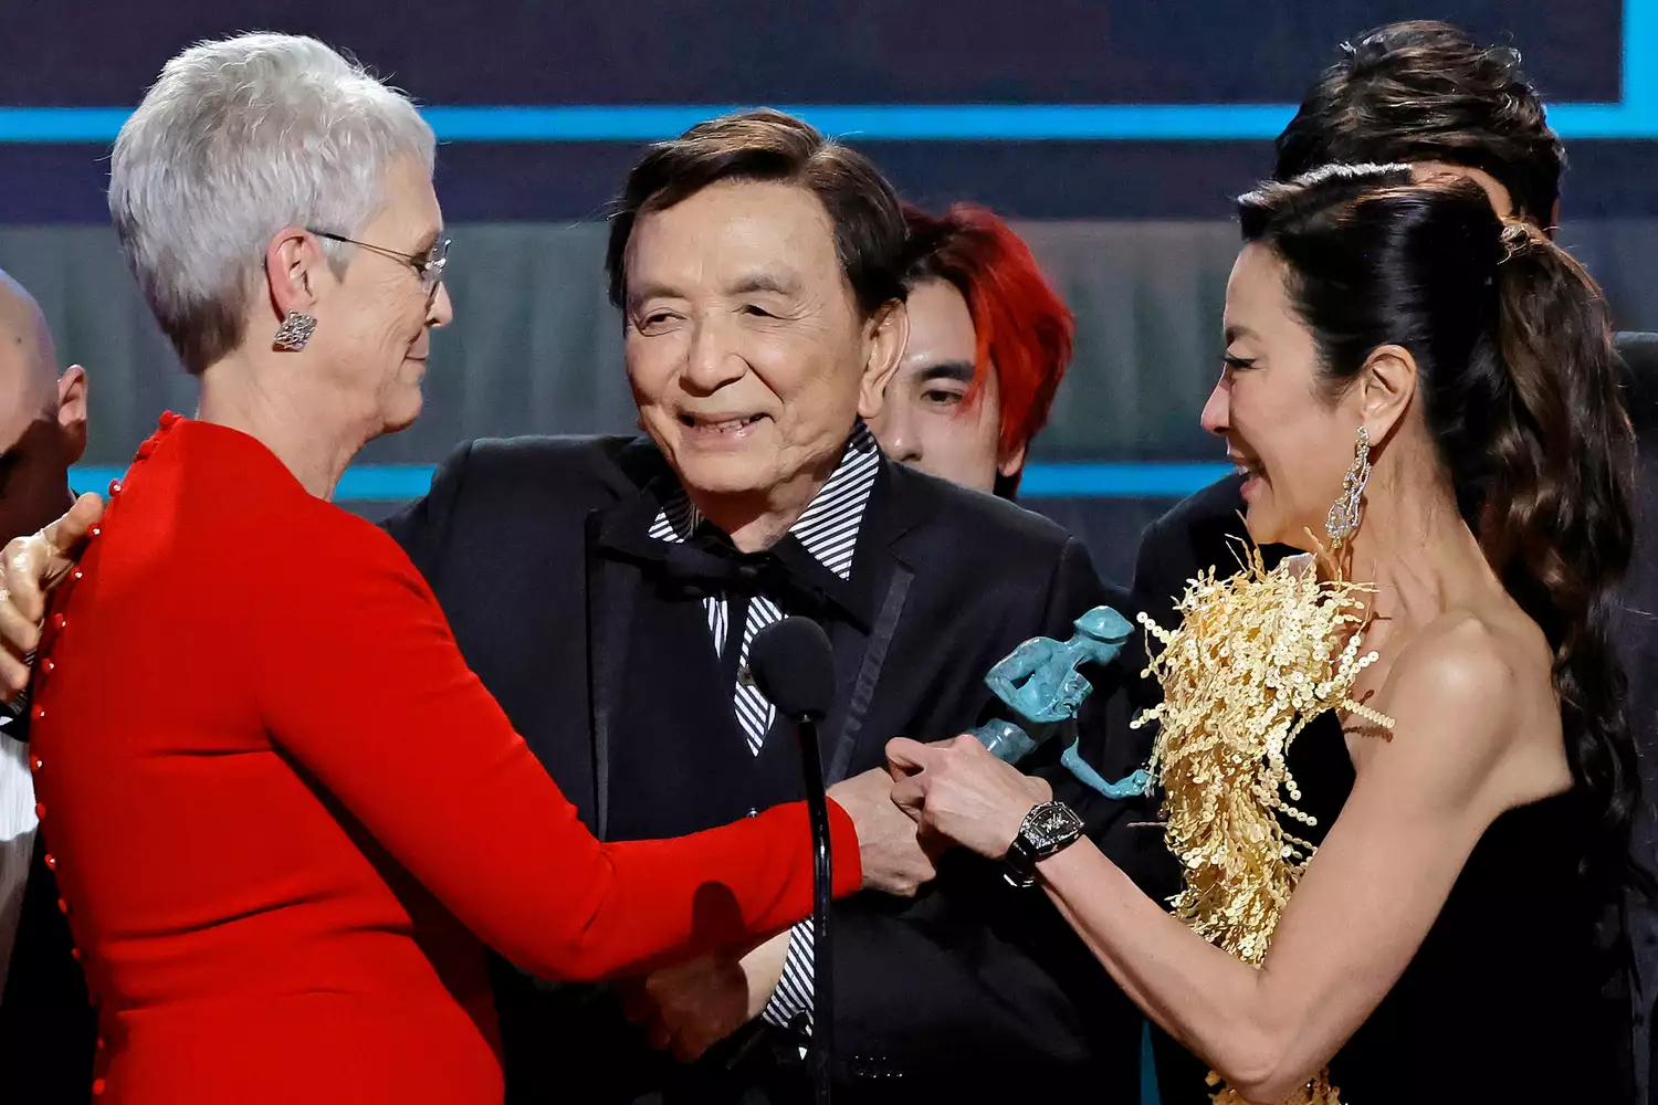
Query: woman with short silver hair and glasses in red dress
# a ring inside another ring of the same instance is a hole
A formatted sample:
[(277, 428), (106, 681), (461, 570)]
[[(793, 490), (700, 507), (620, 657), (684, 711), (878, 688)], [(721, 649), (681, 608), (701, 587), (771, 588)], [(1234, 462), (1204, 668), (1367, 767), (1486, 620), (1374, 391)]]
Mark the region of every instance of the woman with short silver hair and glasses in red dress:
[(285, 35), (186, 50), (116, 142), (121, 247), (201, 408), (111, 485), (40, 646), (30, 759), (106, 1100), (499, 1102), (478, 938), (590, 979), (811, 906), (799, 803), (595, 842), (403, 552), (330, 505), (449, 320), (431, 169), (408, 99)]

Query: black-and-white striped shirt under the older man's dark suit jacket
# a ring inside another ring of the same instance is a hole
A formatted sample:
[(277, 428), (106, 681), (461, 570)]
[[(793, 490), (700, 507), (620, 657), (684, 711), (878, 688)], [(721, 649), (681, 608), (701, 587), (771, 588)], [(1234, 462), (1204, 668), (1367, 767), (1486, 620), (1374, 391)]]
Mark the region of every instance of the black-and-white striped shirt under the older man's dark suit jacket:
[[(880, 451), (875, 436), (862, 422), (852, 431), (841, 464), (829, 475), (829, 480), (812, 497), (806, 510), (789, 527), (789, 535), (801, 543), (822, 567), (829, 568), (842, 580), (852, 575), (852, 555), (857, 552), (857, 530), (864, 522), (864, 509), (869, 505), (870, 490), (875, 487), (875, 472), (880, 469)], [(650, 537), (662, 542), (685, 542), (701, 524), (701, 514), (691, 504), (683, 489), (663, 505), (657, 520), (650, 525)], [(713, 635), (715, 651), (725, 651), (726, 620), (730, 603), (725, 596), (703, 600), (708, 611), (708, 633)], [(748, 605), (748, 621), (743, 625), (743, 653), (738, 658), (738, 673), (748, 671), (748, 646), (754, 635), (783, 618), (784, 611), (771, 598), (756, 595)], [(743, 736), (748, 739), (749, 752), (759, 754), (771, 732), (771, 724), (778, 716), (776, 707), (753, 681), (739, 674), (731, 691), (731, 709)], [(812, 1017), (812, 928), (802, 921), (789, 933), (789, 953), (783, 964), (783, 979), (773, 992), (771, 1001), (761, 1014), (769, 1024), (788, 1025), (797, 1017), (806, 1019), (807, 1027)]]

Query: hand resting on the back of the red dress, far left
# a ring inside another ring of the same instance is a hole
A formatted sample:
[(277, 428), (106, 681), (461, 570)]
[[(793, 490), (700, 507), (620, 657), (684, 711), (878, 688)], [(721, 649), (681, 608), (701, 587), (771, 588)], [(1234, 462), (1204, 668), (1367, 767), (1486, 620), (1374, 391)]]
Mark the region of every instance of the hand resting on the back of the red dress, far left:
[(88, 492), (61, 519), (0, 553), (0, 701), (28, 688), (27, 658), (40, 644), (46, 595), (75, 567), (75, 553), (101, 517), (103, 499)]

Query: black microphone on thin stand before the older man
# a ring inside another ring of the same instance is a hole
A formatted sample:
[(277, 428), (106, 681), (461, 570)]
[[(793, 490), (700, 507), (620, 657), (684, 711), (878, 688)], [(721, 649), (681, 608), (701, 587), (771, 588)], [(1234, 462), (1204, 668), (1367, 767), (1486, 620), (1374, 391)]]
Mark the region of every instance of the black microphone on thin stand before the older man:
[(806, 779), (806, 812), (812, 825), (812, 1034), (806, 1044), (807, 1070), (816, 1105), (829, 1105), (829, 1072), (834, 1055), (834, 1001), (829, 948), (829, 901), (834, 898), (834, 861), (829, 853), (829, 799), (824, 794), (817, 722), (834, 701), (834, 651), (829, 635), (811, 618), (774, 621), (748, 646), (748, 669), (759, 692), (794, 722), (801, 737), (801, 772)]

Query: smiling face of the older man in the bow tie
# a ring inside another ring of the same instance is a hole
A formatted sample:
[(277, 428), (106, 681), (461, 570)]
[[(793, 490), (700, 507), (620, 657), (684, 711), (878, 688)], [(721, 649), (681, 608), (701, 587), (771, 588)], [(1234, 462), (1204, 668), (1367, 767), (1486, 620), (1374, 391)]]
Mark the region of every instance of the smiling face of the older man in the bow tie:
[(713, 184), (640, 215), (623, 263), (640, 426), (705, 514), (826, 479), (879, 409), (904, 310), (861, 315), (817, 197)]

